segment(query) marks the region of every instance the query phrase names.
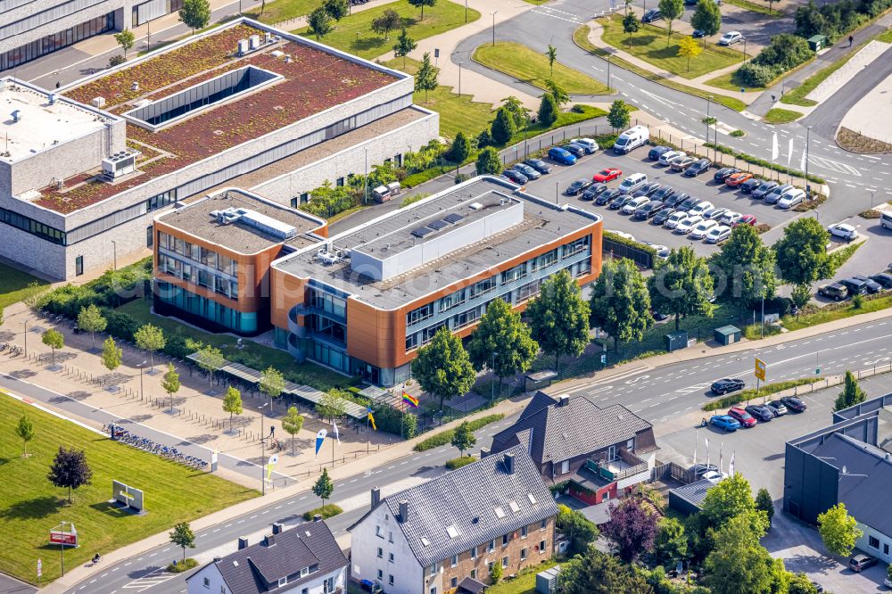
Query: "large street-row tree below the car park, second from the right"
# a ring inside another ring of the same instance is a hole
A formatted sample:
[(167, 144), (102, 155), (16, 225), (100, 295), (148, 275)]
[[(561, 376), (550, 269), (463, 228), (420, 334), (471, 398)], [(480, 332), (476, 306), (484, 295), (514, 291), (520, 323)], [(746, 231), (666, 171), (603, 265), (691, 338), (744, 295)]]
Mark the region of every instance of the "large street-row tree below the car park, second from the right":
[[(709, 260), (716, 293), (737, 301), (742, 309), (761, 298), (777, 293), (774, 252), (751, 225), (738, 225), (722, 249)], [(726, 293), (727, 289), (731, 293)], [(729, 300), (729, 301), (730, 301)]]

